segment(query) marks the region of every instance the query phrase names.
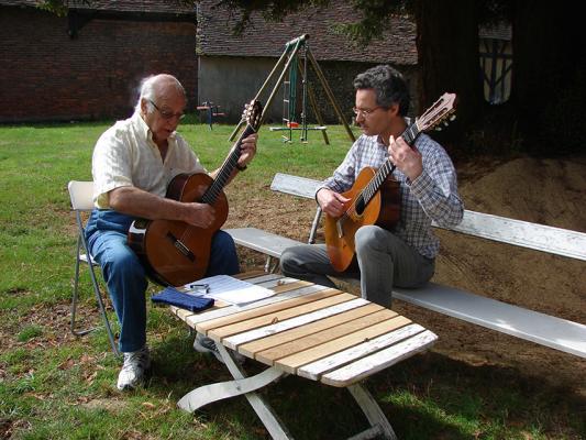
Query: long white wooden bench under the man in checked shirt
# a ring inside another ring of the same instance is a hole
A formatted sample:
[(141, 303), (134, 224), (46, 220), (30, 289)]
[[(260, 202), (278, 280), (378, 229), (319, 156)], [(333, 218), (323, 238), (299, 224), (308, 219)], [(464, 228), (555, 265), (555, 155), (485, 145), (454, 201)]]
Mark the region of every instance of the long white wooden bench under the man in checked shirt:
[[(297, 197), (313, 198), (321, 183), (287, 174), (276, 174), (270, 189)], [(321, 210), (318, 208), (309, 233), (313, 243)], [(434, 224), (435, 226), (435, 224)], [(435, 226), (436, 227), (436, 226)], [(551, 254), (586, 261), (586, 233), (552, 228), (482, 212), (464, 212), (453, 231)], [(274, 271), (272, 258), (300, 244), (256, 228), (226, 229), (234, 241), (268, 256), (265, 270)], [(488, 293), (489, 294), (489, 293)], [(454, 318), (486, 327), (538, 344), (586, 358), (586, 326), (554, 316), (501, 302), (457, 288), (428, 283), (418, 289), (394, 289), (392, 297)]]

